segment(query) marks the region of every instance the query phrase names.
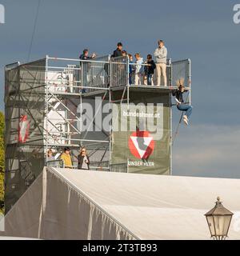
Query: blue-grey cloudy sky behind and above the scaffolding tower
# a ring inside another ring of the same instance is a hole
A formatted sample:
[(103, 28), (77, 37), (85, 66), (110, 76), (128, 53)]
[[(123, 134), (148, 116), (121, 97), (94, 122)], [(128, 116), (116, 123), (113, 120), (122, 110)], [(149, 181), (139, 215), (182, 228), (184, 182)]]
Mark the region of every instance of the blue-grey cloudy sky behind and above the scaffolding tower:
[[(174, 141), (173, 174), (240, 178), (240, 0), (42, 0), (30, 59), (78, 58), (82, 49), (110, 54), (121, 41), (130, 53), (152, 54), (164, 39), (168, 58), (192, 62), (193, 114)], [(4, 66), (26, 62), (38, 0), (0, 0), (0, 110)], [(180, 118), (174, 109), (174, 127)]]

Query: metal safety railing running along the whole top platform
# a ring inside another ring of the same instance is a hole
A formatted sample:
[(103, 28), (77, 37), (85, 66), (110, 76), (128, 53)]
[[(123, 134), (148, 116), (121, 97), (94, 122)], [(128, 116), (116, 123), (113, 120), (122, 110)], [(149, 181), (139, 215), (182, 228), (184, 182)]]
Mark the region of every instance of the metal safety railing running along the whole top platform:
[[(63, 62), (68, 60), (65, 58), (49, 59)], [(110, 55), (106, 55), (87, 60), (69, 59), (66, 66), (47, 66), (49, 73), (47, 82), (50, 92), (74, 94), (108, 90), (110, 86), (174, 86), (179, 78), (184, 78), (185, 86), (190, 87), (190, 59), (177, 62), (171, 62), (171, 59), (168, 59), (166, 72), (164, 66), (160, 67), (158, 63), (155, 64), (153, 74), (149, 74), (150, 65), (146, 61), (130, 62), (128, 56), (110, 58)]]

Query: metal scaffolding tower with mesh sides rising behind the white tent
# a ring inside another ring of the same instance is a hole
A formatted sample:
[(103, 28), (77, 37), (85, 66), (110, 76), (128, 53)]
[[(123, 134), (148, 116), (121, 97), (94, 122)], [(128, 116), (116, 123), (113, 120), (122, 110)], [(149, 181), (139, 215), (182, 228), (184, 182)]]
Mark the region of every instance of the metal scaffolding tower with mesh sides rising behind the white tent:
[[(46, 152), (49, 149), (54, 150), (60, 166), (62, 162), (58, 159), (63, 147), (70, 147), (76, 166), (78, 150), (86, 146), (92, 170), (128, 172), (127, 161), (113, 161), (116, 149), (113, 123), (110, 123), (109, 130), (103, 130), (98, 121), (105, 118), (102, 104), (125, 104), (129, 110), (131, 97), (136, 95), (140, 98), (145, 94), (165, 95), (168, 98), (167, 139), (171, 173), (174, 106), (171, 90), (177, 88), (175, 81), (184, 78), (188, 92), (186, 101), (190, 103), (190, 59), (168, 60), (167, 86), (131, 85), (130, 65), (135, 64), (131, 64), (128, 57), (110, 58), (107, 55), (79, 60), (46, 55), (35, 62), (22, 65), (16, 62), (6, 66), (6, 211), (47, 165)], [(92, 116), (84, 112), (84, 104), (94, 106)], [(85, 125), (83, 119), (88, 127), (85, 130), (82, 129)]]

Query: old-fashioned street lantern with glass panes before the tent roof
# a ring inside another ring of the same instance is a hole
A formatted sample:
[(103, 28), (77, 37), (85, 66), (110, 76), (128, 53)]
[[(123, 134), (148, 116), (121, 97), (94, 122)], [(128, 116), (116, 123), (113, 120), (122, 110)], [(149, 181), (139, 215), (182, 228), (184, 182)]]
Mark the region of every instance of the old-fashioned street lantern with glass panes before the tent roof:
[(222, 206), (222, 202), (219, 197), (217, 198), (214, 208), (207, 212), (205, 216), (211, 238), (214, 238), (214, 240), (225, 240), (233, 213)]

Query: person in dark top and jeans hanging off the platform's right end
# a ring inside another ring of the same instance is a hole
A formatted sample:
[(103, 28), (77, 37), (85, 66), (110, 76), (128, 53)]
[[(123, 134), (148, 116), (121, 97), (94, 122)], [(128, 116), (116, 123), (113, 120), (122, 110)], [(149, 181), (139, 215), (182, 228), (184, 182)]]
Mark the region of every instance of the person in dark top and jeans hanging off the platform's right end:
[(180, 111), (186, 111), (186, 114), (183, 115), (183, 122), (186, 123), (188, 126), (188, 121), (190, 118), (190, 114), (192, 113), (193, 106), (190, 104), (184, 102), (182, 94), (184, 94), (185, 87), (183, 86), (184, 84), (184, 78), (180, 78), (176, 82), (178, 89), (175, 89), (172, 91), (172, 95), (175, 96), (175, 100), (177, 102), (177, 108)]

